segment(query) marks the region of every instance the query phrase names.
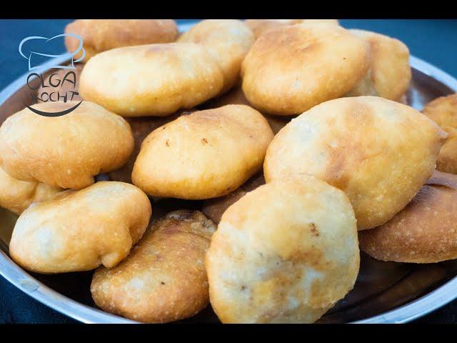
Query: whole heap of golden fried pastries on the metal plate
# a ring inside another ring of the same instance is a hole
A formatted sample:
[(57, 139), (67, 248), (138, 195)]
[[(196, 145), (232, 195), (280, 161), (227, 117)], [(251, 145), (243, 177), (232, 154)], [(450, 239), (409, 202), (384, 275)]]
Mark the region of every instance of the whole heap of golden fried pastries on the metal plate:
[[(77, 20), (66, 33), (86, 49), (80, 106), (0, 127), (21, 267), (94, 270), (95, 304), (139, 322), (211, 303), (224, 323), (311, 323), (353, 288), (359, 249), (457, 258), (457, 97), (408, 106), (401, 41), (335, 19), (204, 20), (181, 36), (172, 20)], [(200, 211), (151, 219), (166, 198)]]

